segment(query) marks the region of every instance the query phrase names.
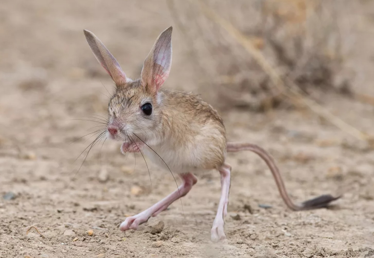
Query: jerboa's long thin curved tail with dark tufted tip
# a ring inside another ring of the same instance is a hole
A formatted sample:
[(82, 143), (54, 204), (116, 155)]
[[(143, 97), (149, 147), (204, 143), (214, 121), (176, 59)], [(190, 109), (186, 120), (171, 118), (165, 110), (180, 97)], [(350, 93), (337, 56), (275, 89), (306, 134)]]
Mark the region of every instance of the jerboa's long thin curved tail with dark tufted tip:
[(341, 196), (333, 197), (330, 194), (324, 194), (319, 197), (307, 200), (301, 204), (295, 204), (292, 202), (291, 198), (288, 196), (286, 191), (286, 187), (283, 183), (283, 179), (281, 174), (279, 173), (278, 167), (275, 165), (275, 161), (270, 156), (270, 154), (264, 150), (263, 148), (250, 143), (235, 143), (235, 142), (228, 142), (227, 143), (227, 151), (228, 152), (237, 152), (241, 150), (249, 150), (256, 153), (258, 156), (263, 159), (267, 166), (269, 166), (270, 171), (272, 172), (275, 182), (278, 186), (279, 193), (282, 196), (283, 201), (286, 203), (288, 208), (294, 211), (302, 211), (302, 210), (309, 210), (309, 209), (317, 209), (317, 208), (324, 208), (327, 207), (328, 204), (334, 200), (339, 199)]

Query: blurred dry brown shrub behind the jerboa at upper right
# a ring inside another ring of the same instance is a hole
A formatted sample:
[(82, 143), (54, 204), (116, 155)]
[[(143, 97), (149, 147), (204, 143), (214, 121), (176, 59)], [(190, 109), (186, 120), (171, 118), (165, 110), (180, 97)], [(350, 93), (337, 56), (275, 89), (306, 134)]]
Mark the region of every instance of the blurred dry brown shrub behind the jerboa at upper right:
[[(353, 44), (349, 0), (204, 1), (236, 27), (305, 94), (350, 92), (344, 60)], [(219, 108), (261, 110), (284, 97), (255, 59), (220, 25), (206, 17), (196, 1), (169, 0), (183, 31), (202, 95)], [(287, 80), (286, 80), (287, 81)]]

